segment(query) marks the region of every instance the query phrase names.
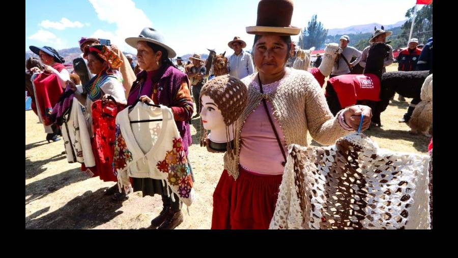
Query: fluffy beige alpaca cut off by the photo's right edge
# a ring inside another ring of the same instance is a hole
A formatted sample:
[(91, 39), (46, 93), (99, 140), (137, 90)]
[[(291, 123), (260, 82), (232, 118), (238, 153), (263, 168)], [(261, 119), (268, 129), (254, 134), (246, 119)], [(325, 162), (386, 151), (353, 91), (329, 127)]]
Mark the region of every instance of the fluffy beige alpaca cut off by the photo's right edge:
[(412, 133), (417, 134), (420, 132), (425, 136), (431, 137), (428, 131), (433, 124), (433, 74), (426, 77), (421, 87), (420, 97), (421, 101), (415, 107), (407, 124)]

